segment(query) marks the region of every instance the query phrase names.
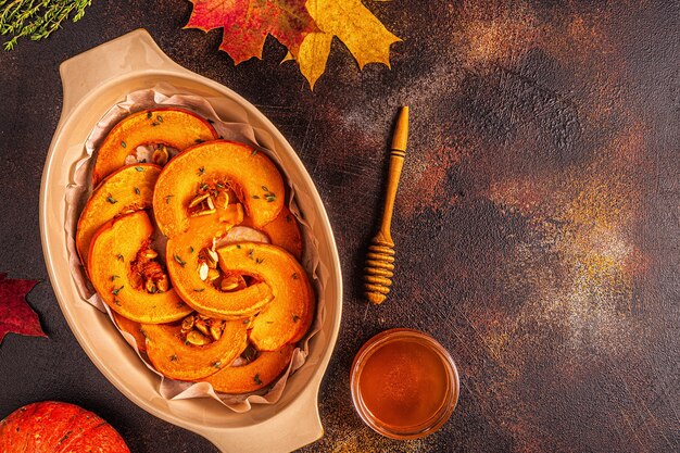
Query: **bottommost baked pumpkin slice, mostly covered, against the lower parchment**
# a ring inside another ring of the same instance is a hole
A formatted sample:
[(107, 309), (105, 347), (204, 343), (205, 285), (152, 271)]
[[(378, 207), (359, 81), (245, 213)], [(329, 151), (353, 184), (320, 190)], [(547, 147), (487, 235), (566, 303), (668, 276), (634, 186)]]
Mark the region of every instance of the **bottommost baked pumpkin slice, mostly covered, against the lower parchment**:
[(221, 393), (254, 392), (267, 387), (284, 373), (294, 350), (293, 344), (286, 344), (278, 351), (263, 351), (252, 362), (227, 366), (204, 380)]

